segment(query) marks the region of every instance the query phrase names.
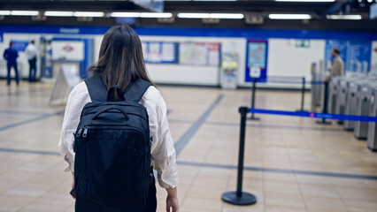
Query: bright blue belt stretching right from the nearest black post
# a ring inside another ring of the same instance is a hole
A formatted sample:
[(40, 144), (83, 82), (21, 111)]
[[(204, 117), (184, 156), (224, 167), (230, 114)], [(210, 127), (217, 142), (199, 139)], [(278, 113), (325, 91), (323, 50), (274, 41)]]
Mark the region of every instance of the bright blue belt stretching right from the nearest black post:
[(260, 113), (260, 114), (281, 115), (281, 116), (292, 116), (292, 117), (314, 117), (314, 118), (327, 118), (327, 119), (347, 120), (347, 121), (377, 122), (377, 117), (342, 115), (342, 114), (333, 114), (333, 113), (264, 110), (264, 109), (255, 109), (255, 108), (254, 109), (250, 108), (249, 112)]

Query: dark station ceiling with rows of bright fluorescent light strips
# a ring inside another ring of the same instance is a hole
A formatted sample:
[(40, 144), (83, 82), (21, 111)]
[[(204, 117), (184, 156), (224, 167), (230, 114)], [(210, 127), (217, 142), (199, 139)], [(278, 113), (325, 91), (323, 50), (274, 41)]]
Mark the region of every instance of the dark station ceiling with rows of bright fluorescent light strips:
[[(117, 19), (111, 12), (148, 12), (137, 1), (126, 0), (0, 0), (1, 11), (39, 11), (42, 17), (1, 16), (2, 24), (27, 25), (112, 25)], [(312, 0), (319, 2), (288, 2), (281, 0), (222, 0), (222, 1), (165, 1), (164, 12), (169, 19), (136, 18), (136, 26), (171, 27), (255, 27), (255, 28), (314, 28), (335, 30), (377, 31), (377, 20), (369, 19), (369, 6), (377, 0)], [(324, 1), (324, 2), (321, 2)], [(103, 11), (104, 17), (78, 19), (75, 17), (43, 17), (44, 11)], [(180, 19), (179, 13), (238, 13), (242, 19)], [(270, 14), (308, 14), (311, 19), (270, 19)], [(328, 15), (359, 15), (361, 19), (329, 19)]]

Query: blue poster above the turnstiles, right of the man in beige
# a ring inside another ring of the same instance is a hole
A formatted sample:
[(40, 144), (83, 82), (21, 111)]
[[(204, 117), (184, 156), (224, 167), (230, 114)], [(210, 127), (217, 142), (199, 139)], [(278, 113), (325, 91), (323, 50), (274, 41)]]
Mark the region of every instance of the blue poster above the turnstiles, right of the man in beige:
[(371, 61), (371, 42), (350, 42), (350, 57), (346, 70), (350, 72), (369, 72)]

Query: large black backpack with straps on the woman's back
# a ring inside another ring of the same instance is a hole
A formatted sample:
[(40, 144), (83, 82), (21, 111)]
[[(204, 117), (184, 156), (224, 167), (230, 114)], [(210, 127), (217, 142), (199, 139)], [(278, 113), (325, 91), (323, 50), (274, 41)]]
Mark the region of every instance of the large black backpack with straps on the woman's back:
[(151, 84), (136, 79), (123, 95), (117, 86), (107, 92), (100, 76), (85, 83), (92, 102), (83, 108), (74, 133), (76, 198), (104, 211), (138, 211), (152, 178), (148, 114), (139, 103)]

